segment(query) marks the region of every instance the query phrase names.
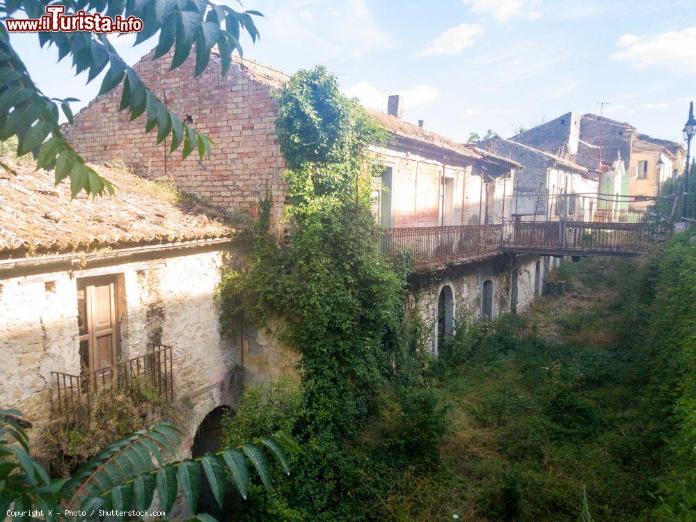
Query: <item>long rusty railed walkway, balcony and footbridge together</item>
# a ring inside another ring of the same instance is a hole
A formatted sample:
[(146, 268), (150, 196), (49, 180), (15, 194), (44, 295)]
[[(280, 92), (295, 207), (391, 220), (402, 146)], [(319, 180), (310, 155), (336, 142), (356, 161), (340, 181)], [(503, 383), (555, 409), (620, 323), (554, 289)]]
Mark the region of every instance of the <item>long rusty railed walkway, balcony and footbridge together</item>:
[(457, 264), (496, 253), (628, 258), (665, 239), (669, 227), (655, 223), (512, 221), (498, 225), (386, 228), (380, 250), (405, 253), (416, 267)]

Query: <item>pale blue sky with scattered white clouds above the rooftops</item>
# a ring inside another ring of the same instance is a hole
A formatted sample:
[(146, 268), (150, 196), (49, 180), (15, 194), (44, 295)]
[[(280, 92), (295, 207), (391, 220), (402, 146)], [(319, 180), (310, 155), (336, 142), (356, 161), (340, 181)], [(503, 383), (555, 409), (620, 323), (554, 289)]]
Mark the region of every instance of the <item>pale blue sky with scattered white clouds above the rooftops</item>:
[[(599, 113), (681, 141), (696, 101), (695, 0), (242, 0), (259, 10), (260, 41), (244, 56), (286, 72), (325, 65), (341, 88), (457, 141), (512, 136), (562, 113)], [(239, 8), (239, 4), (230, 3)], [(13, 45), (45, 94), (86, 104), (85, 85), (35, 35)], [(154, 47), (114, 37), (129, 63)]]

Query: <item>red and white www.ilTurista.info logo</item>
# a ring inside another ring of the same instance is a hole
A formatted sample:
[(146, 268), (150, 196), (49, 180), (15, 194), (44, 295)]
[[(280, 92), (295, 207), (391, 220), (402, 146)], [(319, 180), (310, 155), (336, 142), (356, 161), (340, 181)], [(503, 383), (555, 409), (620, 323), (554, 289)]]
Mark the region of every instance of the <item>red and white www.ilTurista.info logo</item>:
[(74, 15), (65, 15), (65, 6), (46, 6), (46, 14), (40, 18), (8, 18), (5, 26), (8, 33), (73, 33), (86, 31), (94, 33), (139, 33), (143, 30), (143, 20), (133, 15), (123, 18), (104, 16), (100, 13), (86, 13), (79, 10)]

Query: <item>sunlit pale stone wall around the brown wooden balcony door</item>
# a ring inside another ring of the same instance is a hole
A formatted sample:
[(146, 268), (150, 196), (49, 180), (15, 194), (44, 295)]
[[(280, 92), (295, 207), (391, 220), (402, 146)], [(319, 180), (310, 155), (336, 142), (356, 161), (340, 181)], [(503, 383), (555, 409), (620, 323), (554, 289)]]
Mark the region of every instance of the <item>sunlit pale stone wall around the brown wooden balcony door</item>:
[(145, 354), (148, 342), (171, 345), (175, 395), (198, 420), (236, 397), (232, 369), (239, 342), (223, 335), (214, 290), (223, 251), (0, 280), (0, 398), (40, 424), (47, 418), (51, 372), (79, 374), (77, 280), (116, 274), (121, 358)]

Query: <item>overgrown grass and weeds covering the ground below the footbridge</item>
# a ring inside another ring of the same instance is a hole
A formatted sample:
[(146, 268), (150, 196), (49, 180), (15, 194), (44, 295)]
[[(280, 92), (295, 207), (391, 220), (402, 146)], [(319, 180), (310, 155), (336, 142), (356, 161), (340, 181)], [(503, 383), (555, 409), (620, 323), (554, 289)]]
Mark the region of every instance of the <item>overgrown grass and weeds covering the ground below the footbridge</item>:
[(554, 276), (567, 294), (494, 331), (460, 329), (453, 364), (441, 369), (453, 422), (441, 464), (403, 470), (380, 499), (381, 514), (644, 520), (656, 501), (665, 427), (651, 410), (650, 368), (633, 342), (642, 272), (634, 261), (564, 264)]

